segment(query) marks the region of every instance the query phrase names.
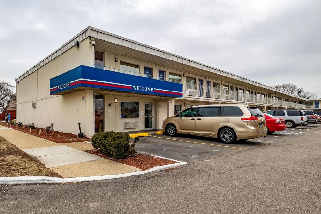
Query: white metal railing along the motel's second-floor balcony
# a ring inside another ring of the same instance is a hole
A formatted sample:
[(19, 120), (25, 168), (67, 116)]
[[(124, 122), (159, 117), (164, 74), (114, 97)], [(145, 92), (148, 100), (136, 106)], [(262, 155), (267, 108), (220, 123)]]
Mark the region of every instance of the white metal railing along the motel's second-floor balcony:
[[(141, 76), (146, 78), (152, 78), (161, 81), (169, 81), (169, 82), (176, 82), (183, 84), (183, 96), (185, 97), (195, 97), (195, 98), (203, 98), (203, 99), (212, 99), (212, 100), (230, 100), (230, 101), (237, 101), (237, 102), (245, 102), (245, 103), (256, 103), (256, 104), (263, 104), (263, 105), (275, 105), (275, 106), (284, 106), (284, 107), (295, 107), (295, 108), (308, 108), (308, 106), (289, 102), (280, 99), (273, 99), (268, 97), (257, 96), (248, 93), (242, 93), (239, 91), (231, 91), (231, 90), (223, 90), (219, 88), (214, 88), (206, 85), (199, 85), (189, 82), (182, 82), (177, 80), (170, 80), (163, 77), (152, 76), (144, 73), (137, 73), (133, 71), (126, 71), (117, 68), (102, 66), (94, 64), (95, 68), (114, 71), (119, 73), (126, 73), (135, 76)], [(317, 105), (318, 106), (318, 105)], [(309, 108), (314, 108), (309, 106)]]

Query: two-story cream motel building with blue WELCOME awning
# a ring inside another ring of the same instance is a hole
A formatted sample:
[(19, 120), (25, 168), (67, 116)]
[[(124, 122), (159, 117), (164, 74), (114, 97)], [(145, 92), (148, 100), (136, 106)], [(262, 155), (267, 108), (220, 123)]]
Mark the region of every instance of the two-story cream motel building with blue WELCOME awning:
[[(95, 46), (93, 46), (95, 43)], [(16, 78), (17, 121), (87, 137), (102, 131), (161, 129), (193, 105), (302, 108), (311, 100), (87, 27)], [(312, 100), (314, 107), (319, 102)]]

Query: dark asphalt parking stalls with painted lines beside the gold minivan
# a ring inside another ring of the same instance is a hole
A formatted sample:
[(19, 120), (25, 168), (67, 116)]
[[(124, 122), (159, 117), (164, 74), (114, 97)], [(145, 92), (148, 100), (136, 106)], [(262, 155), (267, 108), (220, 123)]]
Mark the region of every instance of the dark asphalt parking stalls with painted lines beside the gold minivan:
[(141, 137), (136, 143), (136, 150), (171, 158), (188, 163), (206, 161), (216, 156), (235, 153), (242, 150), (249, 150), (270, 142), (282, 142), (293, 137), (304, 134), (315, 129), (320, 124), (308, 124), (297, 128), (286, 129), (285, 131), (275, 132), (266, 137), (251, 139), (247, 141), (238, 140), (233, 144), (221, 143), (216, 138), (180, 135), (169, 137), (165, 134), (151, 134), (148, 137)]

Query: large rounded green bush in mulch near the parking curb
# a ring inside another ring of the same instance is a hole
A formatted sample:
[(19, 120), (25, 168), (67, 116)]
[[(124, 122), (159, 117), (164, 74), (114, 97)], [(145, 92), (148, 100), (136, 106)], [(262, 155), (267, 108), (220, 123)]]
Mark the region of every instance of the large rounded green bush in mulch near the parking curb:
[(130, 145), (129, 134), (120, 132), (104, 132), (92, 136), (91, 144), (95, 149), (101, 149), (106, 155), (113, 158), (127, 158), (135, 152), (135, 144), (139, 137)]

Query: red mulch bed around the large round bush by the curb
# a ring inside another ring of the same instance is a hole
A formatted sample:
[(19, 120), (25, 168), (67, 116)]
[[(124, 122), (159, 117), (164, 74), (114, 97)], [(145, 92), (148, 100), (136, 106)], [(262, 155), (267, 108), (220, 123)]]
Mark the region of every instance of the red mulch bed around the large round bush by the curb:
[(111, 158), (111, 157), (105, 155), (101, 150), (87, 150), (86, 152), (94, 154), (94, 155), (98, 155), (102, 158), (108, 158), (108, 159), (111, 159), (111, 160), (116, 161), (118, 163), (126, 164), (128, 166), (137, 167), (142, 170), (147, 170), (152, 167), (158, 167), (158, 166), (164, 166), (164, 165), (168, 165), (168, 164), (177, 163), (176, 161), (167, 160), (167, 159), (163, 159), (163, 158), (157, 158), (157, 157), (154, 157), (151, 155), (143, 155), (140, 153), (135, 153), (133, 156), (129, 156), (126, 159), (116, 159), (116, 158)]

